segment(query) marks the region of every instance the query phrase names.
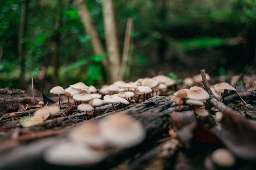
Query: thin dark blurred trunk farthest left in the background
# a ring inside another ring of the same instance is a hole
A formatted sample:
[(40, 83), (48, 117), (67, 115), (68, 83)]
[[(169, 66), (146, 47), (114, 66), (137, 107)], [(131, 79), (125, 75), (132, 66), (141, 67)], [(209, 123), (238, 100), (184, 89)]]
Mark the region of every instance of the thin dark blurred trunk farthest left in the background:
[(20, 58), (20, 87), (23, 88), (24, 85), (24, 64), (25, 64), (25, 53), (23, 51), (23, 37), (25, 34), (26, 18), (27, 18), (27, 5), (28, 0), (23, 0), (21, 4), (21, 14), (20, 14), (20, 27), (18, 35), (18, 57)]

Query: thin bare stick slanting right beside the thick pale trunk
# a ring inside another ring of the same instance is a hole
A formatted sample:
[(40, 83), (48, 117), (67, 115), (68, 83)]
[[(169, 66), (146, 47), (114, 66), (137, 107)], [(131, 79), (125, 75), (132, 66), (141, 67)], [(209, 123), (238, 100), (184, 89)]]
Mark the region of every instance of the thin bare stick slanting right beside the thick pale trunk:
[(126, 30), (125, 30), (122, 64), (121, 64), (121, 67), (120, 67), (118, 80), (123, 80), (124, 79), (124, 72), (125, 72), (125, 68), (126, 68), (126, 63), (127, 63), (127, 58), (128, 58), (128, 51), (129, 51), (129, 44), (130, 44), (131, 29), (132, 29), (132, 18), (128, 18), (127, 24), (126, 24)]

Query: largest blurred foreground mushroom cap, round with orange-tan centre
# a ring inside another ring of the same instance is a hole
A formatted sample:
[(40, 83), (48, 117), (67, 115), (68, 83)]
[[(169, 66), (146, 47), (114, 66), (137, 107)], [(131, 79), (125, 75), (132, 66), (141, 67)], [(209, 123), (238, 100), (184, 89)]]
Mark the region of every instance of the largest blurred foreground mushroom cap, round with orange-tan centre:
[(127, 114), (110, 115), (100, 122), (100, 127), (103, 137), (120, 148), (139, 144), (146, 135), (141, 123)]

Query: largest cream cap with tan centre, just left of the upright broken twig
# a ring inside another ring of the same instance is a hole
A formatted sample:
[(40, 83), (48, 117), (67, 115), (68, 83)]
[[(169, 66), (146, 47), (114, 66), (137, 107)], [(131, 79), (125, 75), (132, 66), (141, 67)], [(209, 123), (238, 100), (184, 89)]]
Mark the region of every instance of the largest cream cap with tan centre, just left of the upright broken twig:
[(209, 99), (209, 94), (200, 87), (191, 87), (187, 92), (187, 98), (194, 100), (207, 100)]

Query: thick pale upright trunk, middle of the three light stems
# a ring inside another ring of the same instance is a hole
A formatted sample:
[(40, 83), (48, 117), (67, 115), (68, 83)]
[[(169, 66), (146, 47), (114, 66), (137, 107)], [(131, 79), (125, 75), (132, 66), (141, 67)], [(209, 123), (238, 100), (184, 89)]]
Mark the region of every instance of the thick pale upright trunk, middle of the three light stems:
[(120, 54), (116, 35), (116, 23), (112, 0), (104, 0), (102, 2), (102, 12), (108, 59), (112, 67), (112, 76), (114, 81), (116, 81), (118, 80), (118, 74), (120, 70)]

